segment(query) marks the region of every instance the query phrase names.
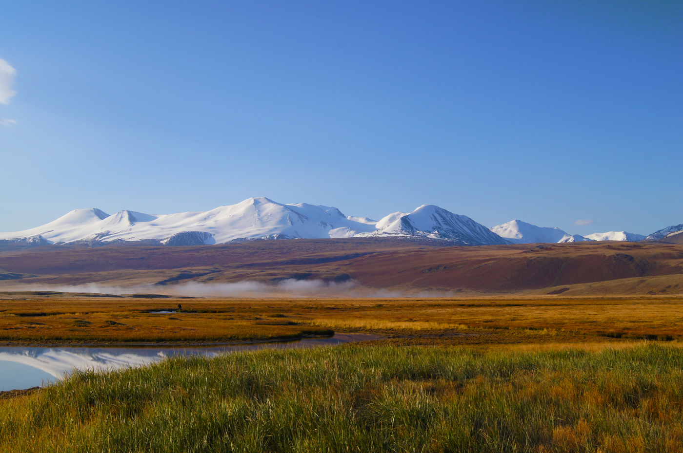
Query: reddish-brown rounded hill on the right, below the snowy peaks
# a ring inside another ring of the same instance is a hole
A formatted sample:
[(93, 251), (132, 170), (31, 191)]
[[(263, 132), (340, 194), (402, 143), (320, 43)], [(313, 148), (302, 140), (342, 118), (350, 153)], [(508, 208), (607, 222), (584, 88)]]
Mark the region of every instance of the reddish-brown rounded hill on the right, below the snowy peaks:
[(372, 287), (516, 291), (683, 272), (683, 247), (620, 243), (454, 247), (355, 259)]

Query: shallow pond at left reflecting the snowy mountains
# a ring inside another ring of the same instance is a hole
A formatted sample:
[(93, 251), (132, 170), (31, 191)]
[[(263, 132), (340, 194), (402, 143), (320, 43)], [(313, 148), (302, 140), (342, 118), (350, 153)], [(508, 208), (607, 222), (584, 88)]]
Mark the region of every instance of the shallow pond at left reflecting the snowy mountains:
[(330, 338), (207, 347), (0, 347), (0, 390), (55, 382), (73, 370), (116, 370), (142, 366), (174, 355), (217, 355), (255, 349), (296, 349), (377, 340), (372, 334), (335, 334)]

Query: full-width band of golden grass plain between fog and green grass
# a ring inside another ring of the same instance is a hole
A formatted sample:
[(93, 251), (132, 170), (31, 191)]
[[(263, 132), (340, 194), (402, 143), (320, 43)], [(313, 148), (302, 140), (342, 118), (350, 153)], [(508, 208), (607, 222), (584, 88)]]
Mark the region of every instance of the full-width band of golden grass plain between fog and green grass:
[[(171, 315), (150, 310), (177, 308)], [(457, 344), (683, 338), (680, 297), (0, 300), (0, 340), (221, 341), (325, 329)], [(476, 338), (475, 338), (476, 337)]]

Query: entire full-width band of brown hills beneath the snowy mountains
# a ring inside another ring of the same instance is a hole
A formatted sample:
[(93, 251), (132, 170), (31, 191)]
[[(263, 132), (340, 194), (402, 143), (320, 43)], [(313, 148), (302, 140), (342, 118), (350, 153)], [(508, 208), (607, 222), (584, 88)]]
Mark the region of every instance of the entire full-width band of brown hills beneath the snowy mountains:
[(294, 278), (357, 280), (368, 288), (402, 291), (683, 293), (683, 246), (678, 244), (441, 245), (296, 239), (229, 246), (34, 248), (0, 253), (0, 268), (12, 274), (0, 288), (101, 282), (161, 284), (168, 290), (179, 282)]

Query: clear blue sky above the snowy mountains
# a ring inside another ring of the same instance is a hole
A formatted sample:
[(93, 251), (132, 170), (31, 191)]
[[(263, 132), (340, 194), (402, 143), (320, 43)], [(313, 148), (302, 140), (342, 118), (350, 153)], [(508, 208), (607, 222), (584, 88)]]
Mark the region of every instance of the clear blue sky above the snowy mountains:
[(683, 222), (680, 1), (15, 1), (0, 231), (250, 196)]

